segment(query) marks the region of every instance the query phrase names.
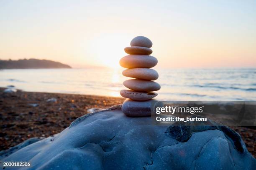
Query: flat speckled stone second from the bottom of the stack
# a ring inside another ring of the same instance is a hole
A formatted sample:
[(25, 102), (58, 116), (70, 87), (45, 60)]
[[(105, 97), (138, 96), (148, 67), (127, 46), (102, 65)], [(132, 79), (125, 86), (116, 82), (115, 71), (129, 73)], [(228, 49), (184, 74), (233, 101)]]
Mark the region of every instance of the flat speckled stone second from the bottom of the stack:
[(120, 95), (138, 101), (145, 101), (157, 96), (155, 92), (137, 92), (133, 90), (121, 90)]

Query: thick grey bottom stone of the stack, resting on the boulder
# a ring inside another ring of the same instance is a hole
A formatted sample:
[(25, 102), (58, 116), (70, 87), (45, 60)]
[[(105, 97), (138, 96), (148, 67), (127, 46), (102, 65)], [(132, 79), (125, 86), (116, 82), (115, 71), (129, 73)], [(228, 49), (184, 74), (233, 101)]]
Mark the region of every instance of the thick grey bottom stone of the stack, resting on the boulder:
[[(154, 103), (152, 103), (154, 102)], [(163, 103), (158, 100), (135, 101), (126, 99), (121, 107), (122, 112), (129, 117), (145, 117), (151, 116), (151, 107), (163, 107)]]

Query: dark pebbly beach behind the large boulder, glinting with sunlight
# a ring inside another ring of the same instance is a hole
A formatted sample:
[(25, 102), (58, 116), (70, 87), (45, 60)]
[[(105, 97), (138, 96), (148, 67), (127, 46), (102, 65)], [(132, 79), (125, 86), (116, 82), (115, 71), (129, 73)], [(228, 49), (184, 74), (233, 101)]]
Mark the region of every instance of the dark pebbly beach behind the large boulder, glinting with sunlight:
[[(121, 104), (124, 98), (96, 95), (73, 95), (46, 92), (3, 93), (0, 88), (0, 150), (6, 150), (24, 140), (49, 137), (88, 113), (90, 108), (107, 108)], [(55, 98), (56, 101), (48, 101)], [(256, 157), (256, 130), (231, 127)]]

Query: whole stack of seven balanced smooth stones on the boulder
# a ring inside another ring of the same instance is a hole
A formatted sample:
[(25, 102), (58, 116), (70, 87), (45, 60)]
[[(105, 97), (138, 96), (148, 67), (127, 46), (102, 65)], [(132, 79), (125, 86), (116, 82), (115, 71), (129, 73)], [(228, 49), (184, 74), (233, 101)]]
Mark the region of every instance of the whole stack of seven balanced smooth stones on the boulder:
[(151, 56), (152, 42), (147, 37), (138, 36), (131, 40), (131, 47), (125, 47), (129, 55), (121, 58), (120, 65), (128, 68), (123, 71), (126, 77), (135, 79), (125, 80), (123, 85), (131, 90), (121, 90), (120, 95), (127, 98), (122, 105), (122, 111), (127, 116), (141, 117), (151, 115), (151, 102), (157, 96), (160, 85), (156, 80), (158, 73), (151, 67), (156, 66), (156, 57)]

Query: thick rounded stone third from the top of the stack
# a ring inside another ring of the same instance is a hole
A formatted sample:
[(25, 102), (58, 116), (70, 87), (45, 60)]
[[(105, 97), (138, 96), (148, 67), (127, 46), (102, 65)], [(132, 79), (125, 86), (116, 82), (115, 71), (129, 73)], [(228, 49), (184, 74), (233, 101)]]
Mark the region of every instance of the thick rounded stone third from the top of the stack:
[(119, 61), (125, 68), (151, 68), (157, 65), (156, 57), (151, 55), (126, 55)]

